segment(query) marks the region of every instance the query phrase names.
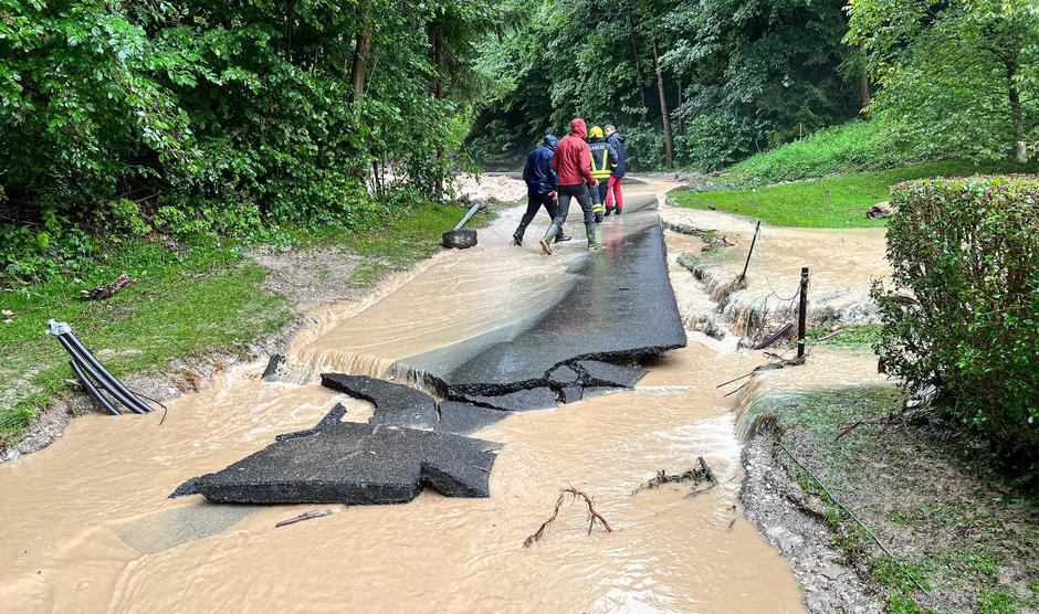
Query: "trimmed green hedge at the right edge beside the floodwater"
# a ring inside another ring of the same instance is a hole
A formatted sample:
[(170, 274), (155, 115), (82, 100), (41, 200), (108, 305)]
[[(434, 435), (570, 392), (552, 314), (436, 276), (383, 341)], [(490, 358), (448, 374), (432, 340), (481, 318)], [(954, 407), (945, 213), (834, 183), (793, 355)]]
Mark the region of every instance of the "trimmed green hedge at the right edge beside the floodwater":
[(1039, 177), (910, 181), (892, 204), (894, 287), (873, 289), (888, 372), (937, 387), (1039, 477)]

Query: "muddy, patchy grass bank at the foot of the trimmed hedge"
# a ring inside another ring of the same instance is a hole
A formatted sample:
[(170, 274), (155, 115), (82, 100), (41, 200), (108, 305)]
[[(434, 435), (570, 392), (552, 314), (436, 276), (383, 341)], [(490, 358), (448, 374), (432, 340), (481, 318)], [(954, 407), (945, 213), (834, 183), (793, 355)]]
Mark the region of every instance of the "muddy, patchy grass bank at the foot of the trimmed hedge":
[(778, 416), (779, 442), (833, 498), (788, 455), (779, 453), (779, 462), (807, 493), (821, 498), (843, 562), (886, 600), (889, 611), (1035, 611), (1039, 516), (1027, 494), (1000, 480), (987, 446), (969, 433), (930, 415), (889, 424), (885, 416), (898, 413), (901, 402), (899, 391), (889, 387), (770, 402), (767, 412)]

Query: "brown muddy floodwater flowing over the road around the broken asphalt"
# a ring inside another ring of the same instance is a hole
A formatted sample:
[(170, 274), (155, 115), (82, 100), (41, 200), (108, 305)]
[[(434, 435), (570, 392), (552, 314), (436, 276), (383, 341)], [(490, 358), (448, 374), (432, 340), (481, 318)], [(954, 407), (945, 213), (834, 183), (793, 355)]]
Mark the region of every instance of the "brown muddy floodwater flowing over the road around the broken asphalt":
[[(641, 203), (655, 216), (665, 188), (632, 184), (630, 210)], [(419, 382), (422, 361), (405, 359), (490, 342), (553, 304), (568, 268), (587, 257), (580, 216), (570, 216), (575, 240), (546, 258), (535, 243), (543, 219), (527, 247), (508, 245), (518, 214), (481, 230), (476, 248), (441, 254), (364, 304), (323, 314), (296, 339), (284, 383), (262, 382), (262, 364), (235, 369), (168, 403), (165, 420), (84, 416), (51, 447), (0, 466), (0, 611), (802, 611), (787, 561), (736, 510), (741, 447), (732, 399), (715, 385), (758, 359), (705, 337), (646, 366), (634, 391), (517, 413), (476, 433), (505, 444), (487, 499), (429, 490), (370, 507), (167, 499), (186, 478), (312, 426), (336, 402), (346, 420), (371, 415), (314, 373)], [(631, 218), (608, 222), (608, 244)], [(721, 480), (713, 490), (690, 499), (680, 484), (632, 495), (657, 470), (681, 473), (697, 456)], [(592, 495), (615, 532), (588, 534), (580, 506), (565, 506), (544, 541), (522, 548), (567, 485)], [(338, 514), (274, 527), (329, 508)]]

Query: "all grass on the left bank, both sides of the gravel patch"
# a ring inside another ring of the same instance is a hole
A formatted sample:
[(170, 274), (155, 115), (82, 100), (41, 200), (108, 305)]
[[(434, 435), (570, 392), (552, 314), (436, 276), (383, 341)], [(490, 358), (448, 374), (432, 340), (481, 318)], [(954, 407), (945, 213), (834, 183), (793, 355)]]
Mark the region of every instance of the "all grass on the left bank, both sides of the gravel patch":
[[(439, 252), (440, 234), (461, 214), (455, 205), (428, 205), (367, 224), (367, 230), (290, 236), (298, 248), (342, 245), (363, 256), (349, 284), (367, 287), (384, 273)], [(480, 215), (470, 224), (491, 219)], [(112, 282), (123, 272), (141, 283), (107, 300), (81, 299), (81, 289)], [(240, 245), (139, 240), (98, 255), (88, 273), (4, 288), (0, 308), (12, 315), (10, 322), (0, 324), (0, 349), (7, 357), (0, 364), (0, 443), (17, 441), (44, 404), (69, 390), (73, 375), (67, 356), (44, 335), (49, 318), (71, 322), (117, 377), (161, 371), (172, 360), (233, 349), (284, 327), (293, 306), (262, 287), (266, 274)]]

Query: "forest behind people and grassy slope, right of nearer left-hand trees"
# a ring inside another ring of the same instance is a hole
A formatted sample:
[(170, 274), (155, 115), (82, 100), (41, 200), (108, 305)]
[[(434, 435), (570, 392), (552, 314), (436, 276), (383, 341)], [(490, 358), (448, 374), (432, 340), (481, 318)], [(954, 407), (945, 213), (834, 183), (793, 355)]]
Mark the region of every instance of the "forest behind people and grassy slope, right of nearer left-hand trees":
[[(954, 0), (514, 2), (473, 144), (511, 160), (571, 116), (640, 168), (716, 170), (854, 118), (907, 158), (1025, 160), (1039, 140), (1037, 6)], [(941, 57), (942, 61), (935, 61)]]

